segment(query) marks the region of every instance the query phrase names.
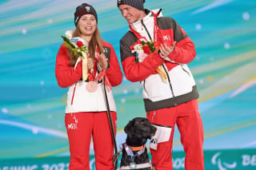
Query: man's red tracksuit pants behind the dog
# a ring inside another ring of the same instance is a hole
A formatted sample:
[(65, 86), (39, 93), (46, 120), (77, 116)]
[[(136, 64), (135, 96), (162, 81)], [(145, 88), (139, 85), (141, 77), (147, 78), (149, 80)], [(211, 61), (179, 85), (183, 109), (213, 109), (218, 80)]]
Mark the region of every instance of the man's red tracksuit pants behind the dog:
[(156, 125), (171, 127), (170, 139), (158, 143), (156, 150), (150, 148), (152, 164), (155, 164), (156, 170), (173, 170), (171, 150), (175, 124), (181, 134), (181, 142), (186, 152), (185, 169), (204, 169), (203, 128), (197, 100), (176, 107), (150, 111), (147, 113), (147, 119)]

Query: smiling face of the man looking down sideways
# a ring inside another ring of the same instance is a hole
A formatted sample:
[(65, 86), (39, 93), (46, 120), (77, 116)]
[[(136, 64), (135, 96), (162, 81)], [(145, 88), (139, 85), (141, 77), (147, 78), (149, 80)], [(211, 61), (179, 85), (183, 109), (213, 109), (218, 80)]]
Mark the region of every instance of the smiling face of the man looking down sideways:
[(119, 10), (122, 13), (122, 17), (126, 18), (129, 24), (142, 20), (146, 16), (146, 13), (143, 10), (138, 10), (133, 6), (120, 5)]

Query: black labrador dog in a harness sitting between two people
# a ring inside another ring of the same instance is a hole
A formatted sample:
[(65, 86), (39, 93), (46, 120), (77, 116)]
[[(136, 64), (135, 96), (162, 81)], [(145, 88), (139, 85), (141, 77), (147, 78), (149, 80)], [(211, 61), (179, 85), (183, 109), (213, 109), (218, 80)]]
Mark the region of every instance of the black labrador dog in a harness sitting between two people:
[(151, 170), (150, 158), (147, 154), (146, 140), (154, 136), (157, 128), (144, 117), (135, 117), (124, 128), (127, 134), (126, 143), (122, 144), (120, 170)]

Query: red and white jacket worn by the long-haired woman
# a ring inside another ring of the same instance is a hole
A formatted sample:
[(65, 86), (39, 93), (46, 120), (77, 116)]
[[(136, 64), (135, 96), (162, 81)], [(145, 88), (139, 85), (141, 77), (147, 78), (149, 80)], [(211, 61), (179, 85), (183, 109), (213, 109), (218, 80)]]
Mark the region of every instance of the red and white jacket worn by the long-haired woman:
[[(122, 71), (114, 48), (108, 42), (102, 42), (102, 46), (109, 61), (106, 77), (111, 86), (120, 85), (122, 83)], [(78, 63), (76, 69), (70, 67), (69, 62), (70, 57), (67, 55), (67, 48), (62, 44), (57, 54), (55, 75), (60, 87), (69, 87), (66, 99), (66, 113), (106, 111), (103, 83), (98, 83), (96, 92), (88, 92), (86, 89), (88, 82), (82, 81), (82, 61)], [(116, 111), (112, 90), (108, 86), (106, 86), (106, 92), (110, 111)]]

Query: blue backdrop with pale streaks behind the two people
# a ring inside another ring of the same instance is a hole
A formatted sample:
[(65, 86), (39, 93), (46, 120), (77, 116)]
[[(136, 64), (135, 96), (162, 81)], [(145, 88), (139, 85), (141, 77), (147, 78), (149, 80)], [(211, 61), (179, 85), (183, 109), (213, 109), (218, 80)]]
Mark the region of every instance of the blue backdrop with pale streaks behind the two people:
[[(74, 30), (74, 9), (82, 2), (0, 2), (0, 162), (69, 156), (67, 89), (58, 87), (54, 66), (61, 36)], [(86, 2), (97, 10), (102, 38), (119, 57), (119, 39), (128, 26), (116, 0)], [(200, 93), (206, 151), (256, 148), (255, 6), (255, 0), (146, 0), (146, 8), (162, 8), (195, 43), (197, 57), (189, 66)], [(146, 113), (138, 83), (124, 78), (113, 90), (120, 144), (128, 121)], [(174, 151), (181, 150), (176, 128)]]

